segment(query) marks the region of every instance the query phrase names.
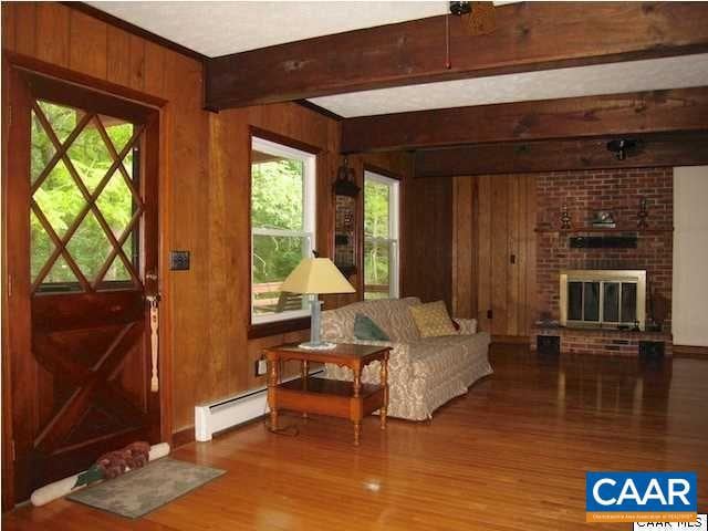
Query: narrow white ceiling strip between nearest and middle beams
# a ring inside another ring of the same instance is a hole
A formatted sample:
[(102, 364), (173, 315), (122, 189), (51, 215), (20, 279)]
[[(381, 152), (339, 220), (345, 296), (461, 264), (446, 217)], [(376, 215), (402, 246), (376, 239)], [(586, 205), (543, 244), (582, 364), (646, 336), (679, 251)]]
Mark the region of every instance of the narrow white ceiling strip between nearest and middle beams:
[(382, 88), (310, 100), (344, 117), (708, 85), (708, 53)]

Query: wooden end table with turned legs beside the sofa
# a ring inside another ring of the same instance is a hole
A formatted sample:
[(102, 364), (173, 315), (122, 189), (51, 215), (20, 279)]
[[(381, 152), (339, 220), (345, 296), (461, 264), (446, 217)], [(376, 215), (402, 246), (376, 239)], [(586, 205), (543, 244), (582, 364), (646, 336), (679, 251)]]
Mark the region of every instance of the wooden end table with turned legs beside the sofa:
[[(387, 346), (351, 345), (340, 343), (330, 351), (308, 351), (296, 344), (266, 348), (268, 360), (268, 405), (271, 429), (278, 429), (278, 412), (289, 409), (348, 418), (354, 423), (354, 445), (358, 446), (362, 419), (381, 410), (381, 429), (386, 429), (388, 407)], [(301, 377), (281, 382), (280, 365), (287, 361), (301, 362)], [(381, 362), (381, 384), (362, 384), (362, 369), (372, 362)], [(334, 363), (354, 372), (353, 382), (310, 377), (310, 363)]]

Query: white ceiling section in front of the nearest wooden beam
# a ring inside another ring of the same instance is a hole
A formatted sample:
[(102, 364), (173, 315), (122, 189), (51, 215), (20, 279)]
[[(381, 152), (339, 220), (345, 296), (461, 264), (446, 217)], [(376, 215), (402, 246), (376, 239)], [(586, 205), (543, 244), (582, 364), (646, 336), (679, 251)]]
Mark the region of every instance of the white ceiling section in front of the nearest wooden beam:
[(448, 12), (445, 1), (88, 3), (209, 58)]

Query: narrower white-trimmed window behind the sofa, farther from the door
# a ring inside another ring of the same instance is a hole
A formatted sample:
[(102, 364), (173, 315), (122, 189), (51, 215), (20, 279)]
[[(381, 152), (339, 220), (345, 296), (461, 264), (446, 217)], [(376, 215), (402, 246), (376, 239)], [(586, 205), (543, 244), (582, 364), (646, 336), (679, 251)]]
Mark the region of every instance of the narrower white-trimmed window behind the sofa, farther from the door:
[(364, 173), (364, 299), (398, 296), (398, 181)]

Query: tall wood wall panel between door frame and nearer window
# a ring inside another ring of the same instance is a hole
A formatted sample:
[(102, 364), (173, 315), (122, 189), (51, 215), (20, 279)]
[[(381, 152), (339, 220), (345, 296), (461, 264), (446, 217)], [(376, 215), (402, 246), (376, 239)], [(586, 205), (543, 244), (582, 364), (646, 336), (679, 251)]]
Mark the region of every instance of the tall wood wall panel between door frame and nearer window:
[[(190, 270), (170, 274), (174, 353), (174, 430), (194, 424), (194, 406), (210, 398), (210, 386), (223, 375), (209, 352), (211, 308), (208, 300), (209, 223), (207, 114), (200, 110), (200, 65), (167, 52), (165, 92), (170, 103), (169, 166), (173, 180), (174, 249), (190, 251)], [(195, 142), (199, 138), (199, 142)]]

